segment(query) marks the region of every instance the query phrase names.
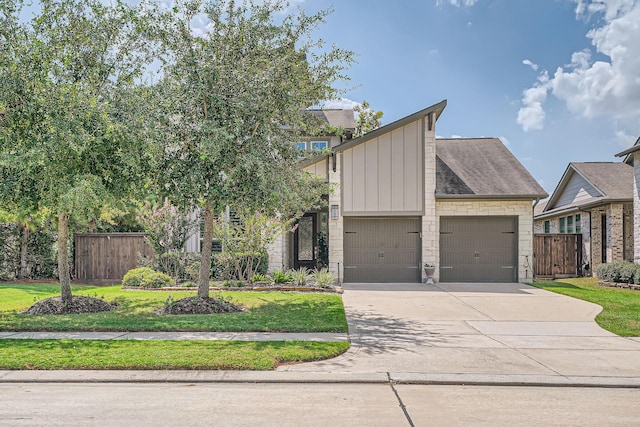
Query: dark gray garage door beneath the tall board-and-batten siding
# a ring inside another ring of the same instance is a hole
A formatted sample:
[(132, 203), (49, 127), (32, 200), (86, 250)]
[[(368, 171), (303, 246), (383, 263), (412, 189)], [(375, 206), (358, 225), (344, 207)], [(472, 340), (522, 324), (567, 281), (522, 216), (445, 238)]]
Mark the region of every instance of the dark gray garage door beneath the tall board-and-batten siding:
[(345, 218), (344, 281), (418, 283), (420, 218)]

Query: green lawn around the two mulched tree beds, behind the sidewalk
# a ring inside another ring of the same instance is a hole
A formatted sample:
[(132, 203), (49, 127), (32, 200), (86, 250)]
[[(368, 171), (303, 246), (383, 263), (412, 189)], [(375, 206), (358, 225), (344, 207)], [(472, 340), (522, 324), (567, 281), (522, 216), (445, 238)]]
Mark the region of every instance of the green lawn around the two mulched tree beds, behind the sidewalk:
[[(0, 331), (221, 331), (221, 332), (346, 332), (342, 299), (336, 295), (285, 292), (222, 292), (242, 313), (215, 315), (159, 315), (167, 298), (194, 292), (121, 290), (119, 286), (74, 286), (74, 295), (103, 298), (120, 305), (117, 310), (59, 316), (19, 314), (34, 302), (59, 295), (49, 284), (0, 285)], [(212, 293), (212, 296), (218, 295)]]

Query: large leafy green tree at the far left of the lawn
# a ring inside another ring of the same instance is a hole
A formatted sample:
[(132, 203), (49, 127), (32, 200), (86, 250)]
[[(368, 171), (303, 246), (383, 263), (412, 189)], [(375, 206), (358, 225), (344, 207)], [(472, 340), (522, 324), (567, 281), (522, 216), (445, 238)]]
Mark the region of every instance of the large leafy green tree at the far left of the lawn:
[[(147, 62), (140, 13), (123, 3), (0, 0), (0, 197), (57, 218), (62, 300), (72, 301), (70, 221), (140, 188), (150, 156), (135, 82)], [(26, 13), (26, 11), (24, 12)]]

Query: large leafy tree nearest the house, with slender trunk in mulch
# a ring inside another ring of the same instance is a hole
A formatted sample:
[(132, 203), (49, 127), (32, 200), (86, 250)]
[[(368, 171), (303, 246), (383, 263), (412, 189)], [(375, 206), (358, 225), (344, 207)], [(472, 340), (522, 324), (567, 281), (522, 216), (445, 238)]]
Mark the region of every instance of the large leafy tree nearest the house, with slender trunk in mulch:
[[(204, 213), (200, 297), (209, 295), (213, 220), (226, 206), (292, 215), (322, 192), (293, 143), (312, 132), (304, 110), (337, 95), (352, 53), (312, 37), (327, 11), (288, 10), (281, 0), (194, 0), (157, 12), (163, 189)], [(202, 18), (205, 33), (191, 28)]]

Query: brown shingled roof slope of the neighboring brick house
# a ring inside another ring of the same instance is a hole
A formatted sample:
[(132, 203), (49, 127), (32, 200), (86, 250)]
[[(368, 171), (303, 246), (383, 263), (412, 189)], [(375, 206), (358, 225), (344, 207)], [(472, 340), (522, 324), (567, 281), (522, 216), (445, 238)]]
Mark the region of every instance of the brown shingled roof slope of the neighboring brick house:
[(633, 198), (633, 167), (624, 162), (571, 163), (571, 166), (610, 199)]

